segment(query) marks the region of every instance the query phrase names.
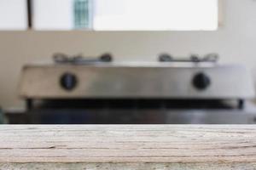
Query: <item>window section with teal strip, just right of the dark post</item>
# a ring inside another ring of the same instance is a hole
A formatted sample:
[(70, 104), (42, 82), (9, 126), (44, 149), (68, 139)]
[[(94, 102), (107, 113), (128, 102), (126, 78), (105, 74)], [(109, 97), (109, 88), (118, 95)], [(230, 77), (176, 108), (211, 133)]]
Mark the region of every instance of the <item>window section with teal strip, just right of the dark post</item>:
[(91, 29), (93, 0), (33, 0), (36, 30)]

